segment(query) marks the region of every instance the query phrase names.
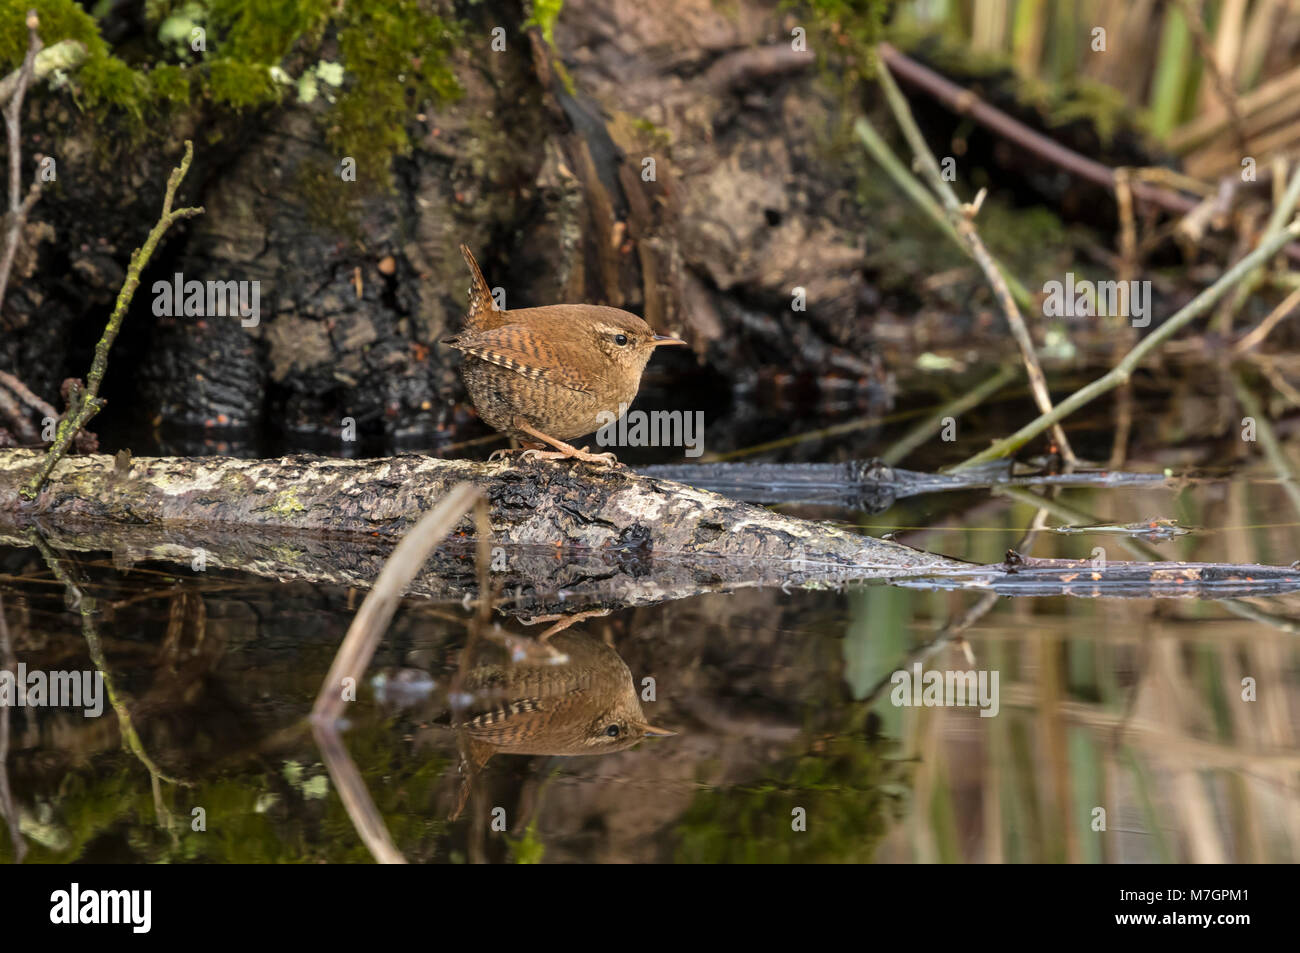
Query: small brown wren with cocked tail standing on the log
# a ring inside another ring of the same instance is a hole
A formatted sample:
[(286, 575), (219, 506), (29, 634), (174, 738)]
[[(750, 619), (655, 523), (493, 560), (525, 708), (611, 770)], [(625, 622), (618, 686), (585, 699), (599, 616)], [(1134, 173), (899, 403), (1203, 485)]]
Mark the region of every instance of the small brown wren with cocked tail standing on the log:
[(464, 330), (443, 343), (465, 355), (462, 376), (478, 416), (512, 439), (555, 447), (529, 455), (618, 463), (564, 441), (608, 423), (602, 413), (627, 410), (655, 347), (686, 342), (597, 304), (498, 309), (473, 254), (465, 246), (460, 252), (473, 276), (469, 312)]

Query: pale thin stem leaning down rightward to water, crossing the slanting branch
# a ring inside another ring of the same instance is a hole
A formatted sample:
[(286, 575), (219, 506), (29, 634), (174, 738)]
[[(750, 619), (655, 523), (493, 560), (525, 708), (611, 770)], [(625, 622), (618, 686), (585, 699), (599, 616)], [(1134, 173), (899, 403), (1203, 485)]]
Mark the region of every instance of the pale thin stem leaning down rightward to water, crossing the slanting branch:
[[(1049, 413), (1052, 411), (1052, 395), (1048, 391), (1048, 382), (1046, 377), (1043, 374), (1043, 367), (1039, 364), (1034, 338), (1030, 335), (1030, 329), (1024, 325), (1024, 319), (1020, 316), (1020, 309), (1017, 307), (1015, 299), (1011, 296), (1011, 291), (1002, 277), (1002, 272), (998, 269), (993, 256), (989, 255), (988, 248), (984, 247), (984, 242), (980, 239), (979, 231), (975, 229), (974, 217), (978, 211), (979, 199), (976, 199), (974, 207), (963, 205), (961, 199), (957, 198), (957, 192), (944, 179), (944, 176), (939, 169), (939, 161), (935, 159), (935, 153), (930, 151), (930, 146), (926, 144), (926, 138), (920, 134), (920, 127), (916, 126), (916, 121), (911, 116), (911, 108), (907, 105), (907, 100), (898, 90), (898, 85), (894, 83), (893, 77), (889, 75), (889, 69), (883, 61), (880, 64), (879, 79), (881, 88), (885, 91), (885, 99), (889, 100), (889, 107), (893, 109), (894, 118), (902, 129), (904, 138), (907, 139), (907, 143), (911, 146), (911, 150), (916, 156), (916, 161), (920, 164), (922, 176), (930, 181), (930, 187), (935, 190), (939, 199), (944, 203), (944, 208), (948, 209), (948, 217), (953, 222), (953, 228), (957, 229), (957, 233), (962, 237), (962, 241), (970, 250), (971, 257), (975, 259), (975, 263), (984, 272), (984, 277), (993, 289), (993, 296), (1001, 306), (1002, 313), (1006, 316), (1006, 322), (1011, 329), (1011, 335), (1015, 338), (1015, 343), (1020, 348), (1020, 358), (1024, 360), (1024, 371), (1030, 378), (1030, 389), (1034, 391), (1035, 403), (1037, 403), (1039, 410), (1043, 413)], [(983, 192), (980, 195), (983, 195)], [(1060, 424), (1054, 424), (1052, 426), (1052, 438), (1056, 441), (1057, 449), (1061, 451), (1061, 456), (1066, 462), (1066, 465), (1076, 465), (1078, 460), (1074, 456), (1074, 450), (1070, 449), (1070, 441), (1066, 439), (1065, 430), (1060, 426)]]

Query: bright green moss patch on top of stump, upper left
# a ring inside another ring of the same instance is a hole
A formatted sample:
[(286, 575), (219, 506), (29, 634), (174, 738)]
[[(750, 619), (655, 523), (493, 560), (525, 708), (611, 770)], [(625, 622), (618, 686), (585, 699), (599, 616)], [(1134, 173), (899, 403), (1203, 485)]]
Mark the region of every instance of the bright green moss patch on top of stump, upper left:
[[(70, 82), (77, 103), (98, 120), (125, 117), (124, 131), (135, 135), (164, 135), (166, 113), (196, 98), (242, 112), (274, 105), (299, 88), (315, 92), (318, 83), (299, 86), (298, 77), (316, 72), (332, 85), (325, 99), (333, 107), (322, 117), (330, 146), (356, 159), (359, 178), (386, 183), (391, 157), (411, 147), (410, 116), (460, 92), (450, 66), (459, 29), (437, 16), (430, 0), (150, 0), (146, 18), (156, 36), (143, 48), (133, 40), (133, 61), (114, 55), (74, 0), (0, 0), (4, 72), (22, 61), (29, 7), (40, 16), (47, 46), (86, 44), (86, 61)], [(540, 5), (543, 31), (554, 29), (559, 7), (559, 0)], [(204, 51), (190, 49), (195, 26), (205, 30)], [(337, 36), (341, 52), (338, 94), (337, 70), (318, 70), (329, 36)]]

